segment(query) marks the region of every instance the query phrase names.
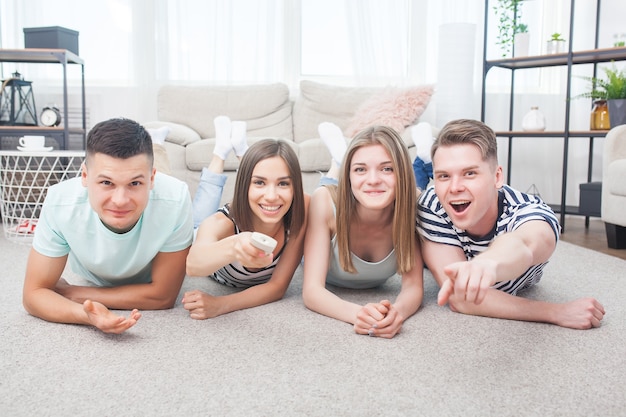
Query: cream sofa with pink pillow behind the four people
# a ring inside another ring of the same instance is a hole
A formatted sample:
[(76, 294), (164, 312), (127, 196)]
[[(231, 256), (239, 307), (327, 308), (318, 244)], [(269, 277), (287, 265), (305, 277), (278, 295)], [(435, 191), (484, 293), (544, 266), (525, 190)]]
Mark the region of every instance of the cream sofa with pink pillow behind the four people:
[[(427, 105), (432, 86), (406, 88), (359, 88), (302, 81), (300, 90), (290, 94), (285, 84), (248, 86), (175, 86), (160, 88), (157, 121), (144, 123), (148, 128), (168, 126), (165, 149), (172, 175), (189, 184), (195, 193), (200, 171), (212, 157), (215, 143), (213, 120), (226, 115), (247, 123), (248, 142), (260, 138), (283, 138), (293, 144), (303, 173), (304, 189), (312, 192), (321, 173), (330, 165), (330, 153), (317, 132), (321, 122), (337, 124), (346, 137), (368, 120), (380, 124), (402, 125), (403, 139), (414, 156), (410, 130), (404, 127), (418, 120), (434, 124), (434, 112)], [(374, 110), (374, 111), (372, 111)], [(420, 114), (413, 119), (412, 113)], [(222, 202), (232, 198), (237, 159), (226, 160), (229, 177)]]

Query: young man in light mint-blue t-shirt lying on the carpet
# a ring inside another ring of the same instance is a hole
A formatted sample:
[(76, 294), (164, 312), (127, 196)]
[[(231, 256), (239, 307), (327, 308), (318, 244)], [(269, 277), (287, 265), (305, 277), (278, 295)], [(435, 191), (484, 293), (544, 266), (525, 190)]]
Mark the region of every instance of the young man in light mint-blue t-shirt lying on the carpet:
[[(141, 317), (137, 309), (173, 307), (193, 236), (191, 198), (185, 183), (153, 165), (150, 135), (138, 123), (93, 127), (81, 176), (48, 190), (26, 267), (30, 314), (122, 333)], [(61, 276), (68, 259), (89, 285)]]

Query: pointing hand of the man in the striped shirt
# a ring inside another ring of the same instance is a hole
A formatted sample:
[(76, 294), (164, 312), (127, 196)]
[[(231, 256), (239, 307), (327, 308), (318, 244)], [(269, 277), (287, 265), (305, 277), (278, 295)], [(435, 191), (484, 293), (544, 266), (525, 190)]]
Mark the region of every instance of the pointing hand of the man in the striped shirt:
[(460, 302), (480, 304), (496, 281), (494, 261), (474, 258), (454, 262), (444, 268), (447, 279), (441, 285), (437, 304), (445, 305), (451, 297)]

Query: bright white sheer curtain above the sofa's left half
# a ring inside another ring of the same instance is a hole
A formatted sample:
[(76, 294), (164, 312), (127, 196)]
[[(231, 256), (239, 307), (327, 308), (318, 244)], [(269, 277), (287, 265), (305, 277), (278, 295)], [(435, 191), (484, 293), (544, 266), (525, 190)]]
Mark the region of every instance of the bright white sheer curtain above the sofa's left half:
[(264, 83), (284, 78), (282, 0), (168, 0), (157, 10), (167, 80)]

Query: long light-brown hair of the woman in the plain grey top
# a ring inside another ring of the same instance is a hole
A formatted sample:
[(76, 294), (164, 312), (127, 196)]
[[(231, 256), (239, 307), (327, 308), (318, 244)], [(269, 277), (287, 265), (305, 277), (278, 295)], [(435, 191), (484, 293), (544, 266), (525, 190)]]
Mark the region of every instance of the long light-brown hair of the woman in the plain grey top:
[(409, 151), (400, 135), (386, 126), (374, 126), (358, 133), (346, 151), (337, 186), (336, 227), (339, 263), (345, 271), (356, 272), (350, 253), (349, 231), (351, 220), (356, 215), (358, 202), (352, 194), (350, 163), (358, 149), (372, 145), (381, 145), (389, 153), (396, 176), (392, 240), (396, 250), (397, 272), (403, 274), (415, 265), (417, 190)]

